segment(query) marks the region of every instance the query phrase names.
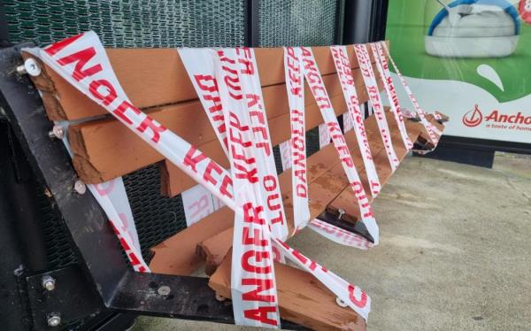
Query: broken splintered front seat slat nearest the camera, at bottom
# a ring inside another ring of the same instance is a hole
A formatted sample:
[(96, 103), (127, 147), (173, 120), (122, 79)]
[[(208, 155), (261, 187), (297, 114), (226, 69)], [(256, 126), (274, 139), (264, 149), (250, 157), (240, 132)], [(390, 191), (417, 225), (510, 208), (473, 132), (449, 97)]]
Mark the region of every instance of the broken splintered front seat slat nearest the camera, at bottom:
[[(274, 264), (281, 318), (312, 330), (366, 330), (366, 321), (350, 308), (336, 304), (336, 296), (310, 273)], [(219, 296), (231, 297), (231, 256), (212, 274), (208, 285)]]

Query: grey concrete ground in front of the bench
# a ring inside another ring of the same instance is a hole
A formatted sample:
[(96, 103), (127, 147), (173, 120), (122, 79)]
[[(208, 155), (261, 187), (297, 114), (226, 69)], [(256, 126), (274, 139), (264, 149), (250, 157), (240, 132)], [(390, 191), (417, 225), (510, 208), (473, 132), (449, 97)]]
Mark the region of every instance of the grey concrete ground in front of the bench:
[[(290, 241), (366, 289), (368, 330), (531, 330), (531, 158), (499, 154), (494, 169), (407, 158), (373, 206), (373, 250), (310, 229)], [(146, 317), (135, 326), (243, 329)]]

